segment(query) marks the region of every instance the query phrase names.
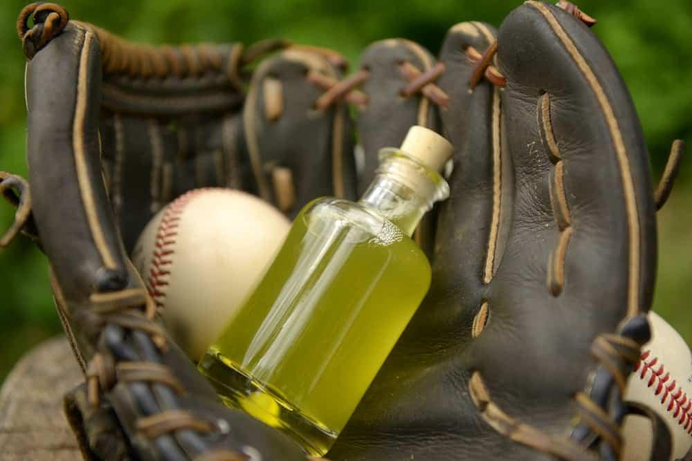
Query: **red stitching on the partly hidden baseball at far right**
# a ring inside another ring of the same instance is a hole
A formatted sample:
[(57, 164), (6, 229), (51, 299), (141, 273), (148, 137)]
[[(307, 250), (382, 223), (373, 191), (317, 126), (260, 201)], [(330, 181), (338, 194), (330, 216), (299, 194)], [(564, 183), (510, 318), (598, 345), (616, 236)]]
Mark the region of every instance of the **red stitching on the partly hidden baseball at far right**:
[[(671, 397), (666, 411), (673, 413), (673, 419), (677, 420), (677, 424), (680, 424), (684, 431), (692, 435), (692, 412), (690, 411), (692, 409), (692, 399), (687, 397), (687, 394), (682, 390), (682, 387), (677, 385), (675, 379), (668, 383), (668, 380), (671, 379), (671, 374), (666, 372), (663, 364), (658, 363), (658, 357), (649, 359), (650, 355), (650, 350), (646, 350), (641, 354), (639, 361), (635, 365), (634, 373), (641, 367), (641, 372), (639, 373), (639, 379), (641, 380), (644, 380), (646, 377), (646, 372), (651, 373), (646, 386), (652, 387), (656, 384), (654, 395), (661, 395), (661, 404), (665, 404), (666, 399)], [(657, 368), (655, 368), (656, 366)]]

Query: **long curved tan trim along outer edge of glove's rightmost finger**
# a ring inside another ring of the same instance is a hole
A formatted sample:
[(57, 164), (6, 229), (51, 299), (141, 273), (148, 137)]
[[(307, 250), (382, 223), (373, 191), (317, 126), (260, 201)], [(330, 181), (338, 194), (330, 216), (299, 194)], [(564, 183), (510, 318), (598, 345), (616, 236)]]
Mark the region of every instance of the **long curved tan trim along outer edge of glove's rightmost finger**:
[(627, 315), (628, 317), (634, 317), (639, 313), (639, 277), (640, 269), (639, 265), (640, 259), (640, 231), (639, 231), (639, 215), (637, 214), (637, 200), (635, 195), (634, 182), (632, 181), (632, 172), (630, 171), (630, 161), (627, 156), (627, 151), (625, 149), (625, 143), (622, 138), (622, 133), (619, 129), (617, 123), (617, 118), (615, 117), (614, 111), (608, 97), (603, 91), (603, 87), (599, 83), (594, 71), (587, 64), (584, 57), (579, 53), (579, 50), (574, 45), (574, 41), (567, 35), (567, 32), (562, 28), (558, 20), (554, 17), (552, 12), (543, 3), (537, 1), (529, 0), (526, 2), (529, 6), (536, 8), (546, 21), (549, 23), (555, 35), (563, 43), (567, 53), (570, 53), (572, 59), (579, 69), (583, 73), (584, 77), (587, 79), (589, 85), (594, 91), (601, 110), (603, 111), (603, 117), (605, 117), (605, 122), (608, 124), (608, 130), (610, 131), (610, 136), (615, 148), (615, 155), (617, 156), (617, 161), (620, 166), (620, 175), (623, 185), (623, 192), (625, 196), (627, 223), (629, 229), (629, 267), (630, 273), (628, 276), (628, 293), (627, 293)]

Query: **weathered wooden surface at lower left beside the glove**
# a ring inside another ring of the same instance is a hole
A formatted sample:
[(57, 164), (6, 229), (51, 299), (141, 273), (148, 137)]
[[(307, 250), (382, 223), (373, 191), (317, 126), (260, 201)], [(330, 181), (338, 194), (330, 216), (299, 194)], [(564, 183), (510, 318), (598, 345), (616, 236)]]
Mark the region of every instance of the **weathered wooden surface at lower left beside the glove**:
[(62, 396), (83, 379), (65, 337), (27, 352), (0, 389), (0, 460), (81, 460)]

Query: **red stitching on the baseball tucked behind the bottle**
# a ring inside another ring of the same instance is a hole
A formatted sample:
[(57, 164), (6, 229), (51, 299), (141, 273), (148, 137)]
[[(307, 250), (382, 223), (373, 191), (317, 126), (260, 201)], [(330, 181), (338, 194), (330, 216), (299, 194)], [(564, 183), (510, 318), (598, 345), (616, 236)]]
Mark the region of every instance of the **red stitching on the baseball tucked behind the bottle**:
[(173, 263), (173, 260), (166, 258), (166, 256), (172, 256), (175, 253), (174, 245), (183, 211), (185, 211), (185, 207), (188, 206), (192, 198), (201, 192), (213, 189), (215, 188), (202, 187), (201, 189), (185, 192), (185, 194), (176, 198), (168, 205), (163, 218), (161, 218), (161, 223), (158, 223), (156, 241), (154, 241), (152, 268), (149, 270), (149, 276), (147, 277), (147, 290), (149, 291), (149, 296), (156, 303), (157, 308), (163, 308), (163, 303), (166, 299), (165, 287), (168, 286), (168, 281), (163, 279), (163, 276), (170, 275), (170, 270), (165, 270), (163, 267)]

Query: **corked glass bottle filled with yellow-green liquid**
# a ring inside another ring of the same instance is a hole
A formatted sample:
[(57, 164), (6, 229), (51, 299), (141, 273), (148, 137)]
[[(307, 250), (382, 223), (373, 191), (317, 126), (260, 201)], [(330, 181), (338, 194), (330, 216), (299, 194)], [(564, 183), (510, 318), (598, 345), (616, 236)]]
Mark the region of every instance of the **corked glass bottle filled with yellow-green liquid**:
[(358, 203), (306, 205), (274, 262), (199, 362), (221, 399), (323, 455), (430, 287), (410, 236), (449, 194), (452, 146), (413, 126), (379, 154)]

